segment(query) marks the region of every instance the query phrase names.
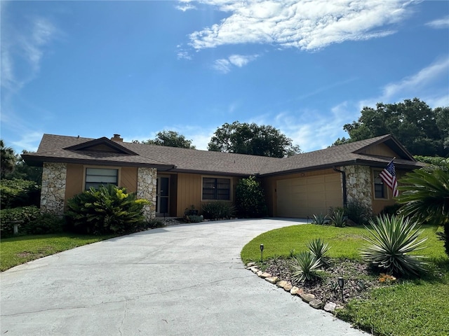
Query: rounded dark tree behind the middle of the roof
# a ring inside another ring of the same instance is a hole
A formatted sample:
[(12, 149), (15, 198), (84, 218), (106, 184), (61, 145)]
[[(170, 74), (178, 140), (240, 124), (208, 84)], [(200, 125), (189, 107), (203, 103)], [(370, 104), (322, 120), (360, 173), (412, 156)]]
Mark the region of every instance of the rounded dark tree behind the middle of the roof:
[(284, 158), (300, 153), (292, 139), (272, 126), (255, 123), (225, 123), (218, 127), (208, 144), (209, 151)]

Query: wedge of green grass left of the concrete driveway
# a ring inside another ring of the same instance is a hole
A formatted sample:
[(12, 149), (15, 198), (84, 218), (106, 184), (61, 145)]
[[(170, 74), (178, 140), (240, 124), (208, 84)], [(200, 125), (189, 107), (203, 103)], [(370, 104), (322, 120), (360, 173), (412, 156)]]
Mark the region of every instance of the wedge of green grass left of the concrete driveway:
[(36, 260), (46, 255), (115, 237), (69, 233), (11, 237), (0, 240), (0, 271)]

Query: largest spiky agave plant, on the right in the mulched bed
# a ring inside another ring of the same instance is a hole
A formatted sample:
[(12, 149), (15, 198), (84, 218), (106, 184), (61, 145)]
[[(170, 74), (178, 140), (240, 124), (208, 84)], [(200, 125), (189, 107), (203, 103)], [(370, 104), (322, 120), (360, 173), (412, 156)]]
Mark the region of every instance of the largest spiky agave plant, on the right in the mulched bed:
[(377, 223), (370, 224), (373, 230), (367, 228), (370, 237), (365, 237), (368, 245), (361, 250), (364, 260), (394, 274), (417, 275), (425, 271), (425, 257), (410, 254), (425, 248), (422, 244), (427, 240), (418, 240), (422, 230), (415, 229), (416, 223), (403, 217), (380, 216)]

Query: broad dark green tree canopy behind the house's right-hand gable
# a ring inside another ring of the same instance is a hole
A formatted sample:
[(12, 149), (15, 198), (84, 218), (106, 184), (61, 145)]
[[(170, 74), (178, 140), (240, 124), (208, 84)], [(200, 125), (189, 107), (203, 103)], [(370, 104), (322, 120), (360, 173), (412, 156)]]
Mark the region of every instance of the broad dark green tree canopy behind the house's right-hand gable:
[(449, 107), (431, 109), (418, 98), (363, 107), (358, 120), (343, 130), (349, 139), (339, 138), (333, 146), (393, 134), (413, 155), (449, 155)]

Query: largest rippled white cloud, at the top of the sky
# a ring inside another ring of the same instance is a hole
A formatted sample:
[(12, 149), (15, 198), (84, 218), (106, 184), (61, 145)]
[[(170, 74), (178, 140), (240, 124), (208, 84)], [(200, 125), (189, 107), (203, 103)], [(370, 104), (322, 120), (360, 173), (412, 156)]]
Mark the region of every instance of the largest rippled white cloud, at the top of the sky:
[(194, 31), (196, 50), (219, 45), (269, 43), (281, 48), (316, 50), (332, 43), (394, 34), (390, 25), (408, 15), (401, 0), (198, 1), (229, 12), (220, 23)]

